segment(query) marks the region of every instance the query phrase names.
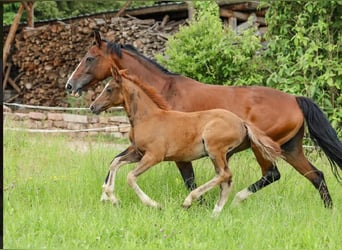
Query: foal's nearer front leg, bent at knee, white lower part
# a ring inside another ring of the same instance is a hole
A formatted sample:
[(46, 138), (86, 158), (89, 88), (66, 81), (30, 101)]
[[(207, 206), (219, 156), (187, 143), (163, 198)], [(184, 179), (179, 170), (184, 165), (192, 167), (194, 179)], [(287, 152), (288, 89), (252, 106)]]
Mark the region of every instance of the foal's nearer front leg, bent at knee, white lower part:
[(151, 153), (146, 152), (142, 157), (141, 161), (137, 164), (137, 166), (128, 173), (127, 182), (131, 188), (133, 188), (134, 192), (138, 195), (142, 203), (147, 206), (161, 208), (161, 205), (152, 200), (137, 184), (137, 178), (139, 175), (144, 173), (153, 165), (161, 162), (161, 159), (156, 159)]

